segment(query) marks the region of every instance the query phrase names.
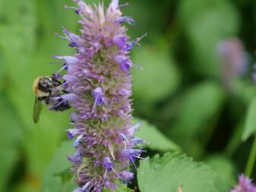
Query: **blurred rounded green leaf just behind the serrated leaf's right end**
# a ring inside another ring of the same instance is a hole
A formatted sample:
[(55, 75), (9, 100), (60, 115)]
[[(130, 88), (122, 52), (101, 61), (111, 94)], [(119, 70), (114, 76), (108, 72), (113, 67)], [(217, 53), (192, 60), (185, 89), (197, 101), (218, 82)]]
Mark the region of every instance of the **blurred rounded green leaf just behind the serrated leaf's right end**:
[(235, 165), (224, 156), (211, 156), (206, 160), (207, 165), (217, 173), (216, 187), (220, 191), (228, 191), (236, 181)]

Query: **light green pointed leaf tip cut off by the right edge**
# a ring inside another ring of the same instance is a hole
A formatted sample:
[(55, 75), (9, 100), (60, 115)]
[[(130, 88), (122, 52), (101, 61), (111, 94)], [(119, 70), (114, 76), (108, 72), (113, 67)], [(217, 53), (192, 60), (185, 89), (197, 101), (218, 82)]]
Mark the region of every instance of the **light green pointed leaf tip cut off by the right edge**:
[(242, 140), (245, 141), (252, 134), (256, 133), (256, 99), (251, 101), (245, 120), (245, 129), (242, 133)]

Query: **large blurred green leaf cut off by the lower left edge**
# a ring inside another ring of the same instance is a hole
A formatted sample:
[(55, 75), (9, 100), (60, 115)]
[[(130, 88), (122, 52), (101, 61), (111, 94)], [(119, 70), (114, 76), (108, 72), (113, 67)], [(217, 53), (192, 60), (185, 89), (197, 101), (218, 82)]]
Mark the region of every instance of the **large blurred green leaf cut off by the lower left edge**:
[(11, 172), (19, 159), (22, 126), (14, 107), (8, 99), (0, 93), (0, 191), (5, 190)]

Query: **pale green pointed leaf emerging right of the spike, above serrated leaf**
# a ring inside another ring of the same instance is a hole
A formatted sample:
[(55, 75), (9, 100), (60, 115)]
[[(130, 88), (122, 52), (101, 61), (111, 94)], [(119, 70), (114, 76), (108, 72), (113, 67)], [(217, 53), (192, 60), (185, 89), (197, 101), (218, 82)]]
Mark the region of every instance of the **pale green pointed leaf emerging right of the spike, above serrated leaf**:
[[(137, 124), (140, 120), (134, 119), (134, 124)], [(178, 145), (176, 145), (172, 140), (169, 140), (165, 135), (157, 130), (155, 126), (147, 123), (147, 121), (142, 121), (143, 124), (136, 131), (135, 135), (143, 140), (145, 140), (145, 146), (151, 150), (160, 151), (178, 151), (181, 150)]]

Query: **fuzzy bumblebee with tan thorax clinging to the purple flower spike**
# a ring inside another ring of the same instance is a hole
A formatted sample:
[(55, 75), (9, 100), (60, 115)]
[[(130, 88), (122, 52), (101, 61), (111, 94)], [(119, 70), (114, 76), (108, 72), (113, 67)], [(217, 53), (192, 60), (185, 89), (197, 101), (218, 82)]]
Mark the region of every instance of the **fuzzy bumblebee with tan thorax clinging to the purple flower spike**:
[(40, 112), (42, 110), (42, 102), (51, 110), (58, 112), (70, 109), (71, 106), (67, 101), (63, 101), (62, 94), (67, 93), (60, 89), (62, 82), (56, 77), (42, 76), (37, 77), (33, 81), (33, 92), (36, 94), (36, 99), (33, 105), (33, 121), (37, 123), (40, 120)]

